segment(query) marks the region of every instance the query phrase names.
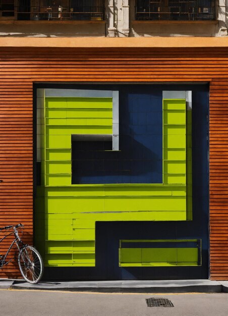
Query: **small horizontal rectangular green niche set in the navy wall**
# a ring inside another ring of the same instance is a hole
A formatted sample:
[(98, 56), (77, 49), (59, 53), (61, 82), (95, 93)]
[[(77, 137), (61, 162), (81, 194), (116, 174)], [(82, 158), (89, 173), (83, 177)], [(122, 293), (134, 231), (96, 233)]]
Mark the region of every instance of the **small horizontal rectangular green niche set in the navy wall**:
[(119, 266), (201, 266), (201, 239), (120, 240)]

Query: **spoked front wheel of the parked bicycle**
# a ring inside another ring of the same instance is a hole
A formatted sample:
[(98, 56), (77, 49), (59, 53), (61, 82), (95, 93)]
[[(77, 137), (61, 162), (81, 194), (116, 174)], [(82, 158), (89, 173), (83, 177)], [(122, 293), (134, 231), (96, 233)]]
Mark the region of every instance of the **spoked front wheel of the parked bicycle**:
[(43, 260), (35, 248), (31, 246), (21, 248), (18, 255), (18, 265), (27, 282), (36, 284), (42, 278)]

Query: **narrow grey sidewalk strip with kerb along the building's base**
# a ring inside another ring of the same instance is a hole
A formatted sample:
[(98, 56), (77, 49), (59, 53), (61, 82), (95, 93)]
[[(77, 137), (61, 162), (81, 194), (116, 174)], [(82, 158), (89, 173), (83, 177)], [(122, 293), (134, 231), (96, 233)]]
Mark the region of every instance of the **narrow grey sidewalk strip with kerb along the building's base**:
[(87, 291), (115, 293), (228, 293), (228, 281), (165, 280), (165, 281), (70, 281), (39, 282), (0, 279), (0, 289), (26, 289), (49, 291)]

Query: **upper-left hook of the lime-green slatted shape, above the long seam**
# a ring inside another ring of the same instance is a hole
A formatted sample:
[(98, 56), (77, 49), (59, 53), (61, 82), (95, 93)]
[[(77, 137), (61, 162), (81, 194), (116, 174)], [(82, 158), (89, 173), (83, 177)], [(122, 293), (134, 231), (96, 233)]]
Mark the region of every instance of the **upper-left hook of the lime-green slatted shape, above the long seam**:
[(44, 122), (42, 184), (71, 186), (71, 135), (112, 134), (112, 98), (46, 97)]

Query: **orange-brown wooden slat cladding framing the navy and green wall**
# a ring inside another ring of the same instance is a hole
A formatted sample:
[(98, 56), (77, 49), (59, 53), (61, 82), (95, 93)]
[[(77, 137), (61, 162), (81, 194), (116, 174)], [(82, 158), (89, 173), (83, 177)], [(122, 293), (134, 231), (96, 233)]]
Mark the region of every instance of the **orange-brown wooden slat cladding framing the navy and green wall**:
[[(0, 227), (24, 223), (30, 244), (33, 83), (210, 82), (210, 278), (228, 280), (227, 48), (2, 47), (0, 79)], [(20, 277), (17, 265), (11, 263), (0, 277)]]

